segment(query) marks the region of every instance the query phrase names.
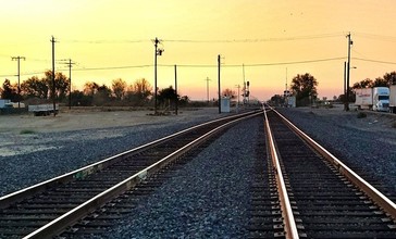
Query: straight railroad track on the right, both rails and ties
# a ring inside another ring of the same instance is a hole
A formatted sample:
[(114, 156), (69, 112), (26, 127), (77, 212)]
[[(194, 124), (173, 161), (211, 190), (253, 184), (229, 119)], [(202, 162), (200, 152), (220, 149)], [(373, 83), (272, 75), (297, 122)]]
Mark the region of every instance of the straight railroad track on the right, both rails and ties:
[(396, 238), (394, 202), (277, 112), (265, 115), (283, 218), (277, 236)]

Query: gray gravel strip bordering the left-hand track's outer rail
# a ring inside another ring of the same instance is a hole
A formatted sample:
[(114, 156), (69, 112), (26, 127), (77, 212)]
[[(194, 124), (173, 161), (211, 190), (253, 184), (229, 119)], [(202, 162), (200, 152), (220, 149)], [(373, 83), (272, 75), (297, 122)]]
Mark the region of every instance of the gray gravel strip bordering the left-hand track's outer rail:
[(219, 116), (226, 115), (208, 113), (183, 121), (174, 116), (165, 123), (10, 137), (9, 148), (21, 153), (0, 156), (0, 197)]

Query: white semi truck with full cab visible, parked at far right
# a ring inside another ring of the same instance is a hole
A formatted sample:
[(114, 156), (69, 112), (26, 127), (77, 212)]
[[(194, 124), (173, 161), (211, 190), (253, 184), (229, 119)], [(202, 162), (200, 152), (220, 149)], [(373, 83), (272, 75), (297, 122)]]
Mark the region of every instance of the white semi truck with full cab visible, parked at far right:
[(369, 109), (373, 111), (388, 111), (389, 88), (374, 87), (356, 89), (355, 105), (358, 109)]

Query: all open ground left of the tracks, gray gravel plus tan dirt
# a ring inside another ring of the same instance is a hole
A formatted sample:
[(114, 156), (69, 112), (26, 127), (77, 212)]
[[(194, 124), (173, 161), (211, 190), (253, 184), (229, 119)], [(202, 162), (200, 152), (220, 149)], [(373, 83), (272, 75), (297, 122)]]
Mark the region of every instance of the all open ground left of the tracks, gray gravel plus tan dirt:
[(178, 115), (166, 116), (148, 113), (152, 112), (1, 115), (0, 196), (226, 115), (214, 108), (181, 110)]

